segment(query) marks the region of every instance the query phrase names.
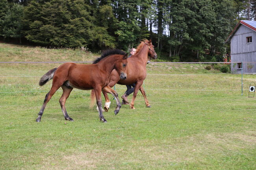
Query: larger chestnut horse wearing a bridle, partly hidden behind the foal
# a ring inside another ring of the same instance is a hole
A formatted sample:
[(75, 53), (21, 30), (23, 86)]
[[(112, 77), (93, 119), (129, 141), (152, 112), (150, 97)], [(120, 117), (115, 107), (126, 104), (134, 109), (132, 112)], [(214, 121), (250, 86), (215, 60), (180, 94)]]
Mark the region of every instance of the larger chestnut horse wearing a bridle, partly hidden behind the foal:
[[(132, 102), (130, 104), (131, 109), (135, 109), (134, 107), (134, 101), (137, 96), (138, 90), (141, 91), (144, 99), (145, 99), (145, 104), (146, 107), (151, 107), (148, 99), (146, 97), (145, 90), (141, 86), (143, 84), (143, 81), (145, 80), (147, 76), (147, 61), (148, 57), (156, 59), (157, 54), (154, 51), (154, 46), (151, 43), (151, 40), (143, 40), (139, 44), (136, 50), (136, 54), (132, 55), (131, 57), (127, 58), (127, 79), (126, 80), (121, 80), (118, 76), (117, 70), (113, 69), (110, 75), (110, 80), (109, 80), (109, 87), (113, 87), (116, 83), (117, 84), (122, 84), (122, 85), (129, 85), (135, 83), (135, 89), (134, 89), (134, 94), (132, 97)], [(109, 105), (110, 105), (110, 100), (108, 98), (108, 94), (103, 91), (104, 97), (106, 99), (106, 104), (104, 106), (104, 110), (108, 112)], [(91, 93), (91, 96), (93, 96), (93, 90)], [(92, 97), (91, 97), (92, 98)]]

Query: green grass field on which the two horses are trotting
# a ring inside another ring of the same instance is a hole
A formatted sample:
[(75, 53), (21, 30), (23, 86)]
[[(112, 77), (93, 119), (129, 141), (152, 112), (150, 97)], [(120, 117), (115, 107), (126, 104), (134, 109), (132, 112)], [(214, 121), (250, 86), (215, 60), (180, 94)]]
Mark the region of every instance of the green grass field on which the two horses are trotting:
[[(97, 55), (0, 44), (0, 61), (91, 61)], [(241, 75), (209, 74), (220, 72), (203, 64), (151, 63), (143, 86), (152, 108), (138, 93), (136, 109), (125, 105), (115, 116), (112, 98), (104, 112), (108, 123), (101, 123), (89, 109), (90, 91), (73, 90), (69, 122), (59, 90), (37, 123), (51, 86), (39, 87), (39, 79), (56, 66), (0, 64), (0, 92), (16, 92), (0, 93), (1, 170), (256, 169), (256, 99), (248, 97), (255, 75), (243, 75), (241, 95)], [(121, 96), (125, 87), (116, 90)]]

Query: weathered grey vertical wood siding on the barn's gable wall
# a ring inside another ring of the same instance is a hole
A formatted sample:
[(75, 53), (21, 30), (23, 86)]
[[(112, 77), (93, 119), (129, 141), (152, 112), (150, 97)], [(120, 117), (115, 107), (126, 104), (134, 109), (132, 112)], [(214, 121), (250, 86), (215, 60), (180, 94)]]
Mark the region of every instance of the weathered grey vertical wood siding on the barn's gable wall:
[[(252, 37), (252, 42), (247, 43), (246, 37)], [(256, 72), (256, 32), (241, 25), (230, 41), (232, 62), (255, 62), (243, 63), (243, 72)], [(232, 72), (241, 72), (237, 64), (231, 64)]]

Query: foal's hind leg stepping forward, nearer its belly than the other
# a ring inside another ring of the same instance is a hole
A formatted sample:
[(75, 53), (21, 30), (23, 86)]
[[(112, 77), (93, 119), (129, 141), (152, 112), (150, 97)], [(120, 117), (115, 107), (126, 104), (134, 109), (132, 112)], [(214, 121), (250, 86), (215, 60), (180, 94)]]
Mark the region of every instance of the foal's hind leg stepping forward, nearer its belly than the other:
[(67, 121), (74, 121), (71, 117), (69, 117), (67, 110), (65, 108), (65, 103), (67, 101), (67, 98), (69, 97), (70, 92), (73, 90), (73, 88), (69, 88), (65, 85), (61, 86), (61, 88), (63, 89), (63, 94), (62, 94), (61, 98), (59, 99), (59, 104), (61, 106), (61, 110), (62, 110), (63, 115)]

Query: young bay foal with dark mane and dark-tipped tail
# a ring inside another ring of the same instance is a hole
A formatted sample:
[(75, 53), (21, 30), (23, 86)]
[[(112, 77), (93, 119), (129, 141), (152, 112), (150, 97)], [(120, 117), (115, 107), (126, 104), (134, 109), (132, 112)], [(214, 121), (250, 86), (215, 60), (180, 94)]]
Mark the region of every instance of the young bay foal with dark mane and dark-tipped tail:
[[(39, 81), (39, 85), (43, 86), (50, 79), (52, 80), (52, 88), (45, 96), (43, 106), (38, 113), (37, 122), (41, 121), (41, 117), (45, 110), (45, 106), (50, 101), (52, 95), (61, 87), (63, 94), (59, 99), (61, 110), (66, 120), (73, 121), (67, 114), (65, 102), (69, 97), (73, 88), (81, 90), (95, 91), (96, 102), (98, 108), (101, 108), (101, 91), (111, 93), (115, 96), (117, 107), (115, 108), (115, 115), (121, 108), (121, 103), (118, 99), (118, 94), (108, 86), (109, 76), (113, 69), (117, 70), (120, 79), (126, 79), (126, 65), (127, 57), (124, 51), (110, 50), (102, 54), (100, 58), (95, 60), (96, 64), (75, 64), (67, 62), (58, 68), (51, 69)], [(98, 110), (100, 121), (107, 122), (102, 114), (102, 110)]]

